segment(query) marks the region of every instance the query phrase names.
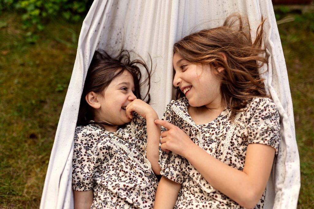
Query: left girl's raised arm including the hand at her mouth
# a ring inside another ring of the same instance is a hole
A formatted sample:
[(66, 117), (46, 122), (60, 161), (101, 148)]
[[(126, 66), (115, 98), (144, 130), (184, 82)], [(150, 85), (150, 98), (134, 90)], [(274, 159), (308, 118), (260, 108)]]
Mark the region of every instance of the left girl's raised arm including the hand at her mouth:
[(155, 110), (149, 104), (140, 99), (135, 99), (126, 107), (127, 116), (132, 118), (132, 111), (137, 112), (140, 116), (146, 119), (147, 126), (147, 148), (146, 157), (152, 165), (155, 174), (160, 175), (159, 160), (159, 142), (160, 142), (160, 125), (154, 123), (158, 119)]

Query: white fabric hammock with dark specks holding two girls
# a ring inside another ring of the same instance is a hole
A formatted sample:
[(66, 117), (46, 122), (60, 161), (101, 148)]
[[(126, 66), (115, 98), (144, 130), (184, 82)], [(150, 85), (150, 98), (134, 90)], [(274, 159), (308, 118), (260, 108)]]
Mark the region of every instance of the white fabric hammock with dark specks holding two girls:
[[(73, 208), (71, 188), (73, 136), (86, 73), (97, 49), (134, 50), (156, 66), (152, 77), (152, 106), (160, 118), (173, 98), (173, 44), (190, 32), (220, 26), (231, 13), (248, 17), (252, 39), (261, 22), (268, 67), (266, 87), (279, 108), (281, 143), (268, 181), (264, 208), (296, 208), (300, 162), (289, 81), (271, 0), (95, 0), (78, 40), (71, 81), (62, 108), (46, 174), (41, 208)], [(143, 91), (145, 91), (145, 87)]]

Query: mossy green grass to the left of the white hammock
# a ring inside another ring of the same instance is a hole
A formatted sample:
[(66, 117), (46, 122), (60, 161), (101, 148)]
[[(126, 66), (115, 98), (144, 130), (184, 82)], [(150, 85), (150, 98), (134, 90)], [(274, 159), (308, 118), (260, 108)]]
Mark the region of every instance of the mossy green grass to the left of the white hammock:
[(0, 21), (0, 208), (38, 208), (81, 23), (29, 44), (17, 14)]

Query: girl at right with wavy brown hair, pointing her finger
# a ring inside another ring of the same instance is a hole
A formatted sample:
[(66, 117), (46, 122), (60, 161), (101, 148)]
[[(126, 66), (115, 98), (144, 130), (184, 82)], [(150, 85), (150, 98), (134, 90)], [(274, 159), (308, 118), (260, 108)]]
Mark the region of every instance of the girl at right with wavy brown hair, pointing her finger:
[[(174, 45), (176, 101), (166, 107), (155, 208), (263, 208), (279, 113), (258, 69), (263, 24), (231, 15)], [(184, 95), (184, 96), (183, 96)]]

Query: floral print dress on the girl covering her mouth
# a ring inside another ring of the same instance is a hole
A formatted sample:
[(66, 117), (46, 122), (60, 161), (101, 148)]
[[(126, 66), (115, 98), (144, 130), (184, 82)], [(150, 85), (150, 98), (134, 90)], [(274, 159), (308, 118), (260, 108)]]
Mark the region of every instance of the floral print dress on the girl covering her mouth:
[(136, 113), (116, 133), (78, 126), (72, 188), (93, 190), (91, 208), (152, 208), (158, 181), (146, 158), (146, 121)]

